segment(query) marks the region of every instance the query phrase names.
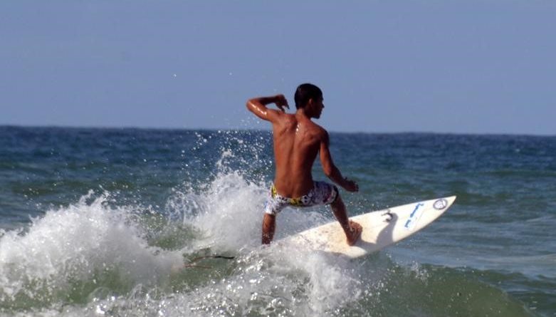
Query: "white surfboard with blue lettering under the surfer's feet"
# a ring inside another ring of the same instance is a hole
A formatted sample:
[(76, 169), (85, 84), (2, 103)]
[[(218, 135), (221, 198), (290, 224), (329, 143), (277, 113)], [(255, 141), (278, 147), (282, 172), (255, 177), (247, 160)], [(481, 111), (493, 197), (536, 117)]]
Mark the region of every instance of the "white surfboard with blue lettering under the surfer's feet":
[(347, 245), (337, 221), (305, 230), (286, 240), (310, 249), (357, 258), (418, 232), (444, 214), (454, 200), (456, 196), (431, 199), (350, 217), (363, 227), (361, 239), (354, 246)]

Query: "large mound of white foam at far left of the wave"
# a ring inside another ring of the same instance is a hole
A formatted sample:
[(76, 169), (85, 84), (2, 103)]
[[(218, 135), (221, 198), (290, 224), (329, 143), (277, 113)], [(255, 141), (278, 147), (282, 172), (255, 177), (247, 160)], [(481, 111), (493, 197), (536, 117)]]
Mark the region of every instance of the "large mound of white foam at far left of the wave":
[[(110, 207), (107, 195), (93, 193), (77, 204), (48, 210), (28, 231), (0, 239), (0, 299), (47, 298), (69, 293), (73, 281), (117, 269), (133, 284), (154, 284), (180, 255), (147, 245), (130, 219), (130, 210)], [(92, 202), (89, 200), (92, 199)], [(64, 291), (65, 290), (65, 291)]]

